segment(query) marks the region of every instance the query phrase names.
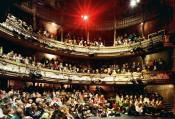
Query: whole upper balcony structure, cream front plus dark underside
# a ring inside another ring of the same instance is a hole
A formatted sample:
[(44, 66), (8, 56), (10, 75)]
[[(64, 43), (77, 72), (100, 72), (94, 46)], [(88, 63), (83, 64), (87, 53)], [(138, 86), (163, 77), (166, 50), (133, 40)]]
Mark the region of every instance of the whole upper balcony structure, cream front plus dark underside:
[[(12, 19), (12, 18), (11, 18)], [(26, 47), (37, 48), (39, 50), (45, 49), (49, 53), (74, 55), (85, 57), (123, 57), (136, 55), (139, 53), (149, 53), (157, 48), (162, 48), (161, 45), (164, 38), (164, 30), (148, 35), (148, 38), (138, 38), (137, 42), (128, 43), (117, 46), (81, 46), (76, 44), (69, 44), (61, 41), (56, 41), (51, 38), (41, 36), (32, 30), (25, 29), (17, 25), (15, 21), (6, 20), (0, 24), (0, 33), (7, 40), (14, 40), (25, 43)], [(29, 45), (30, 44), (30, 45)], [(155, 47), (156, 46), (156, 47)]]

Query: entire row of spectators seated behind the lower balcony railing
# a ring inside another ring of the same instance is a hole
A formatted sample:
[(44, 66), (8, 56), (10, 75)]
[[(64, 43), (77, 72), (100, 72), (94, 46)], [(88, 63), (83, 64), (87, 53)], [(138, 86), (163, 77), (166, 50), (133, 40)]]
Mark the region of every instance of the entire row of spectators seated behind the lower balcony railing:
[[(0, 49), (3, 49), (2, 47)], [(0, 50), (0, 54), (3, 58), (15, 61), (17, 63), (24, 63), (26, 65), (32, 65), (41, 68), (48, 68), (52, 70), (59, 70), (61, 72), (67, 73), (93, 73), (93, 74), (124, 74), (132, 72), (142, 72), (142, 71), (164, 71), (166, 70), (166, 63), (163, 59), (159, 58), (158, 60), (149, 60), (143, 65), (142, 62), (131, 62), (124, 64), (103, 64), (100, 67), (93, 67), (90, 64), (76, 64), (76, 63), (67, 63), (61, 62), (57, 59), (49, 60), (43, 58), (40, 61), (36, 61), (33, 57), (23, 57), (21, 54), (17, 54), (14, 51), (11, 51), (7, 54), (4, 54)]]

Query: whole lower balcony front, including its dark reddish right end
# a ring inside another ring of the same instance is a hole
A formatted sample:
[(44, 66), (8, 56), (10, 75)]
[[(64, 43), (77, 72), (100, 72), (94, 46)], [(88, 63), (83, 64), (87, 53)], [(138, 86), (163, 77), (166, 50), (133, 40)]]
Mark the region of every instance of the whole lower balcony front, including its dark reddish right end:
[(127, 72), (115, 75), (68, 73), (0, 58), (0, 75), (28, 82), (52, 82), (64, 84), (169, 84), (173, 83), (173, 71)]

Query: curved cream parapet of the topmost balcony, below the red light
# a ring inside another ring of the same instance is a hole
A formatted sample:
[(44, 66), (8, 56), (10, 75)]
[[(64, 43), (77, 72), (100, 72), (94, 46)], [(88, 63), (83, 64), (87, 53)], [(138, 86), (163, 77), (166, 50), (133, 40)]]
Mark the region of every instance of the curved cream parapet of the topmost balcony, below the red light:
[[(95, 47), (95, 46), (79, 46), (67, 44), (60, 41), (55, 41), (53, 39), (44, 38), (36, 35), (35, 33), (25, 31), (23, 29), (17, 28), (13, 25), (1, 24), (0, 26), (1, 34), (3, 36), (9, 35), (10, 39), (16, 39), (21, 42), (33, 43), (33, 45), (38, 45), (40, 48), (51, 50), (53, 52), (65, 53), (69, 55), (77, 56), (90, 56), (94, 57), (122, 57), (134, 55), (133, 50), (137, 48), (143, 49), (145, 52), (149, 52), (149, 49), (153, 48), (156, 45), (159, 45), (163, 41), (164, 35), (162, 31), (154, 33), (152, 37), (148, 39), (143, 39), (140, 42), (136, 42), (130, 45), (119, 45), (119, 46), (110, 46), (110, 47)], [(150, 35), (151, 36), (151, 35)]]

